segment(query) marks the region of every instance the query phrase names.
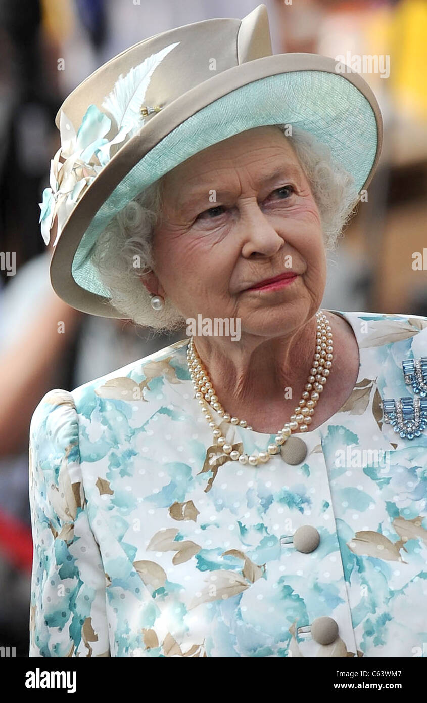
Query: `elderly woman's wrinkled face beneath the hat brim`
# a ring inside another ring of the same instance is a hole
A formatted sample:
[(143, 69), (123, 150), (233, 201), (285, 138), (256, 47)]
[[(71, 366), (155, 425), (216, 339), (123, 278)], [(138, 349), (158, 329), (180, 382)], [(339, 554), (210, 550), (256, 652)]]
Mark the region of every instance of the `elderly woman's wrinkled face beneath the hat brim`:
[[(326, 261), (320, 214), (277, 127), (206, 148), (164, 177), (153, 239), (159, 295), (185, 318), (240, 318), (241, 335), (275, 337), (320, 307)], [(286, 285), (254, 288), (294, 273)]]

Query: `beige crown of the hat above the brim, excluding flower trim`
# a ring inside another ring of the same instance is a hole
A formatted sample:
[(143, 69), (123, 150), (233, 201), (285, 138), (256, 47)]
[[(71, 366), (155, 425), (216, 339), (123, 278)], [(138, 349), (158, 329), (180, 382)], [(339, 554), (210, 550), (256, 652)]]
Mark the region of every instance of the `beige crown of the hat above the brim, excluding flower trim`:
[[(134, 44), (98, 68), (65, 98), (55, 118), (58, 129), (61, 112), (65, 112), (76, 131), (89, 105), (106, 112), (103, 101), (117, 81), (147, 58), (163, 53), (166, 47), (171, 50), (150, 77), (143, 100), (146, 105), (170, 105), (217, 73), (271, 56), (267, 8), (259, 5), (242, 20), (219, 18), (194, 22)], [(147, 115), (140, 127), (153, 117), (155, 113)]]

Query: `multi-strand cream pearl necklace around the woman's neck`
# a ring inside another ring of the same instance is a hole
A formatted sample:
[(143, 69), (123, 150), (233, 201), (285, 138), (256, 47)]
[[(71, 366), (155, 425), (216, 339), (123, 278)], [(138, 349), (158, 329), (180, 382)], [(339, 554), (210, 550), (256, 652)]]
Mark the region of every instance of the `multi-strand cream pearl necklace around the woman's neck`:
[(239, 461), (241, 464), (249, 463), (251, 466), (256, 466), (258, 463), (265, 463), (280, 451), (280, 447), (287, 441), (287, 438), (291, 436), (292, 432), (296, 432), (296, 430), (298, 430), (298, 432), (307, 432), (308, 425), (312, 422), (312, 416), (317, 401), (320, 399), (320, 394), (327, 382), (329, 373), (331, 373), (334, 352), (332, 330), (331, 325), (329, 325), (329, 320), (321, 310), (317, 311), (316, 316), (317, 332), (315, 354), (310, 368), (310, 375), (308, 376), (301, 399), (298, 401), (298, 406), (296, 406), (294, 414), (289, 418), (289, 422), (285, 423), (282, 430), (277, 432), (274, 442), (268, 445), (267, 451), (260, 451), (258, 455), (251, 454), (251, 456), (248, 456), (246, 453), (240, 453), (236, 449), (233, 449), (232, 445), (228, 444), (223, 433), (213, 421), (212, 415), (209, 413), (209, 408), (206, 407), (206, 403), (216, 410), (218, 415), (220, 415), (226, 423), (246, 427), (247, 430), (252, 429), (252, 427), (247, 424), (246, 420), (239, 420), (239, 418), (232, 417), (230, 413), (227, 413), (218, 401), (218, 395), (213, 388), (209, 373), (197, 354), (193, 337), (191, 337), (187, 350), (187, 363), (193, 388), (195, 389), (195, 397), (199, 401), (200, 406), (202, 406), (202, 413), (213, 431), (213, 440), (221, 447), (225, 454), (230, 455), (230, 459)]

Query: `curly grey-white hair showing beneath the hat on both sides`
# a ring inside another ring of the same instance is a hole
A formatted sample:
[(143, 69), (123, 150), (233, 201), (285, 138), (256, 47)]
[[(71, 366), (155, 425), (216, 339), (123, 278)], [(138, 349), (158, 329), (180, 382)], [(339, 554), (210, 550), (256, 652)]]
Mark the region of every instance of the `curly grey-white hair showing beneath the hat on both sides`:
[[(359, 195), (353, 177), (334, 162), (331, 151), (313, 134), (277, 124), (291, 142), (319, 209), (324, 247), (332, 251), (353, 214)], [(152, 239), (162, 212), (163, 178), (145, 188), (110, 221), (94, 245), (91, 262), (110, 290), (110, 301), (136, 325), (156, 334), (174, 333), (185, 326), (185, 318), (170, 299), (155, 311), (140, 276), (155, 267)]]

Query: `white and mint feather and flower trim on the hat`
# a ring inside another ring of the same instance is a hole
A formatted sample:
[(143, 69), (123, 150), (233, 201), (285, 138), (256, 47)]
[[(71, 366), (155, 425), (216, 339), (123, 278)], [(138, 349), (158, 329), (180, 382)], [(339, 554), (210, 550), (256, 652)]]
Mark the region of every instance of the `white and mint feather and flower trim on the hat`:
[[(133, 66), (126, 76), (119, 76), (102, 103), (112, 120), (96, 105), (89, 105), (76, 133), (71, 120), (61, 110), (61, 146), (51, 160), (50, 188), (44, 189), (42, 202), (39, 203), (41, 236), (46, 246), (51, 239), (55, 218), (57, 232), (53, 246), (58, 242), (77, 202), (116, 153), (118, 145), (128, 141), (143, 127), (140, 107), (152, 73), (164, 56), (178, 44), (178, 41), (169, 44), (138, 66)], [(110, 129), (113, 136), (107, 139)]]

